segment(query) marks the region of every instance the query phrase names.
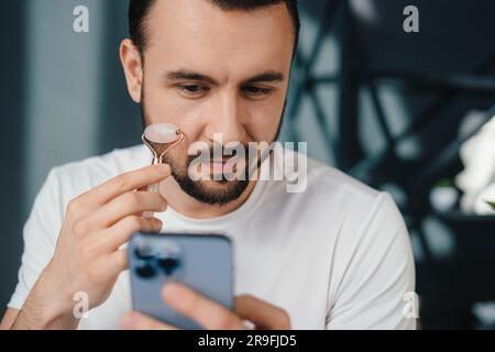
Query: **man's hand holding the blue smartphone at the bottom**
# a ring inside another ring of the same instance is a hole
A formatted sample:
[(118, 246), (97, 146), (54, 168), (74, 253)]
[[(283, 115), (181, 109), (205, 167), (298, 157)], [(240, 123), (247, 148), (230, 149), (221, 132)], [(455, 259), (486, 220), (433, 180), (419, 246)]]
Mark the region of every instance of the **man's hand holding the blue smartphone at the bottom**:
[[(162, 290), (163, 299), (177, 312), (193, 319), (207, 330), (244, 330), (248, 320), (260, 330), (289, 330), (290, 319), (285, 310), (250, 295), (235, 297), (234, 311), (205, 298), (193, 289), (169, 283)], [(176, 330), (140, 312), (132, 311), (122, 319), (128, 330)]]

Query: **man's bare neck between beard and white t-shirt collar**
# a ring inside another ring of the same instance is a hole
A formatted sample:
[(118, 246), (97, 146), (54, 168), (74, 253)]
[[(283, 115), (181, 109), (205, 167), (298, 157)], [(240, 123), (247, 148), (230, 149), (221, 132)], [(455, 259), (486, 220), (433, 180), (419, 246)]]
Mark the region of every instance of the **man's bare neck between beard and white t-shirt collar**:
[(196, 200), (186, 194), (172, 176), (160, 185), (160, 193), (168, 201), (168, 207), (172, 207), (178, 213), (194, 219), (211, 219), (241, 207), (250, 197), (255, 185), (256, 182), (251, 180), (238, 199), (224, 206), (211, 206)]

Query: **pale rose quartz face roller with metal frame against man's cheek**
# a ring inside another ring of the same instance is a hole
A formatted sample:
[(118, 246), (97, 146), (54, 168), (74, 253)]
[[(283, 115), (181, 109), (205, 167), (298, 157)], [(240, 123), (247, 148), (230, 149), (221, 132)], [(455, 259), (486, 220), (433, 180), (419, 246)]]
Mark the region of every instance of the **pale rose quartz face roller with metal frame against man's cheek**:
[[(184, 141), (184, 133), (172, 123), (153, 123), (143, 133), (142, 140), (153, 154), (152, 165), (163, 164), (164, 155)], [(150, 185), (147, 191), (158, 191), (160, 184)], [(144, 218), (152, 218), (153, 212), (146, 211)]]

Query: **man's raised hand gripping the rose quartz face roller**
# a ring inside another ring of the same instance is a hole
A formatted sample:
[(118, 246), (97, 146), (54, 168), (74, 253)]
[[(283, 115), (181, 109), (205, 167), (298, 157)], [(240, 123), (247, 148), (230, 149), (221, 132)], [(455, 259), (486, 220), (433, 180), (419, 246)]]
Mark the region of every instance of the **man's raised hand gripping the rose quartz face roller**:
[(139, 231), (160, 231), (162, 221), (144, 211), (164, 211), (158, 193), (135, 191), (170, 175), (155, 165), (120, 175), (72, 200), (52, 261), (31, 290), (13, 329), (76, 328), (74, 294), (85, 293), (89, 309), (110, 295), (118, 275), (128, 267), (120, 249)]

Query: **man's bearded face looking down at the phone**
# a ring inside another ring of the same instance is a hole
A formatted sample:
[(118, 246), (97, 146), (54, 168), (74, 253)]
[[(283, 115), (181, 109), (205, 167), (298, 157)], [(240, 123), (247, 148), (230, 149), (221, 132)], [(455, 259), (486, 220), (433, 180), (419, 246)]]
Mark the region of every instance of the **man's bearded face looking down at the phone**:
[[(145, 123), (178, 125), (185, 141), (165, 158), (174, 177), (202, 202), (228, 204), (248, 182), (193, 182), (189, 146), (200, 141), (212, 151), (216, 133), (222, 145), (275, 140), (294, 47), (288, 10), (279, 4), (226, 12), (206, 0), (161, 0), (146, 26), (140, 96)], [(198, 170), (212, 178), (228, 158), (201, 163)]]

